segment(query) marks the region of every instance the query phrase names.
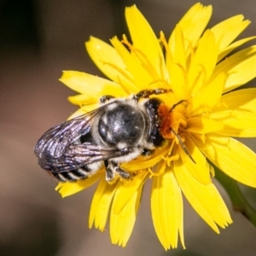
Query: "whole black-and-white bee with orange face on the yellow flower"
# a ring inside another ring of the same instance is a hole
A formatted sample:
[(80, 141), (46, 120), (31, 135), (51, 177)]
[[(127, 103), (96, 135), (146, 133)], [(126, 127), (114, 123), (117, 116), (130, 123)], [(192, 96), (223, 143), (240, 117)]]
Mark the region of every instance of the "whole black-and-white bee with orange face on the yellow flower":
[[(34, 148), (38, 165), (64, 183), (90, 177), (102, 166), (108, 182), (115, 177), (130, 179), (131, 174), (120, 165), (152, 154), (165, 141), (163, 127), (168, 118), (160, 111), (165, 105), (149, 96), (168, 92), (155, 89), (126, 98), (102, 96), (99, 108), (44, 133)], [(183, 149), (189, 154), (184, 145)]]

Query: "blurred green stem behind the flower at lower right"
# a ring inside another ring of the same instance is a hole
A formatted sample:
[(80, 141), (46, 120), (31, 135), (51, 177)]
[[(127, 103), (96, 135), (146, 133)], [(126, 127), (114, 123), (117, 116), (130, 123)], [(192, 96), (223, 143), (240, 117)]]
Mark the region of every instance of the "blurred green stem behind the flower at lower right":
[(254, 225), (254, 227), (256, 227), (256, 211), (249, 204), (247, 199), (241, 194), (241, 189), (239, 188), (237, 182), (224, 172), (220, 171), (218, 167), (214, 166), (214, 169), (215, 177), (230, 196), (230, 201), (232, 202), (234, 211), (241, 212), (241, 214), (247, 218)]

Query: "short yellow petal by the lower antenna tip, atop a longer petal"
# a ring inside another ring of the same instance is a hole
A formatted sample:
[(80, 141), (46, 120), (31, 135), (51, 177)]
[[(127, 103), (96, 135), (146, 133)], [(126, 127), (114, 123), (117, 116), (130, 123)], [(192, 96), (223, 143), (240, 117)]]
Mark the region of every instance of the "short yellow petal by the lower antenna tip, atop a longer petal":
[(195, 160), (195, 163), (189, 158), (188, 154), (186, 154), (179, 145), (179, 154), (183, 160), (183, 164), (187, 166), (189, 172), (191, 175), (202, 184), (208, 184), (211, 183), (211, 177), (210, 177), (210, 167), (207, 163), (206, 157), (201, 154), (201, 151), (199, 148), (195, 146), (195, 143), (193, 140), (186, 136), (185, 137), (185, 144), (186, 148), (189, 150), (189, 154), (192, 156), (193, 160)]

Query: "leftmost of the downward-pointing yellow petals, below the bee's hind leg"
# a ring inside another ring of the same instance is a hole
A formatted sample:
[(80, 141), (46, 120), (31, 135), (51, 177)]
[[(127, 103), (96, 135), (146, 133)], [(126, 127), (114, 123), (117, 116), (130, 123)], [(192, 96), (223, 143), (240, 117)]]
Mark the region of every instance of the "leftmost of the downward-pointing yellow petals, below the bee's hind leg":
[(90, 228), (94, 224), (96, 229), (101, 231), (105, 229), (115, 189), (115, 184), (110, 185), (106, 182), (105, 177), (102, 177), (90, 205)]

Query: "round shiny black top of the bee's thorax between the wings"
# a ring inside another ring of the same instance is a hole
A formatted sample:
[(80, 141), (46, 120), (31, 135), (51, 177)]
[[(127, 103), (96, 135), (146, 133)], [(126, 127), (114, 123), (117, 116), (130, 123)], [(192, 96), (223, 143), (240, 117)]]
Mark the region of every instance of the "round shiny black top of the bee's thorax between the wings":
[(145, 129), (143, 113), (130, 105), (118, 105), (102, 115), (98, 129), (106, 143), (132, 145), (143, 135)]

